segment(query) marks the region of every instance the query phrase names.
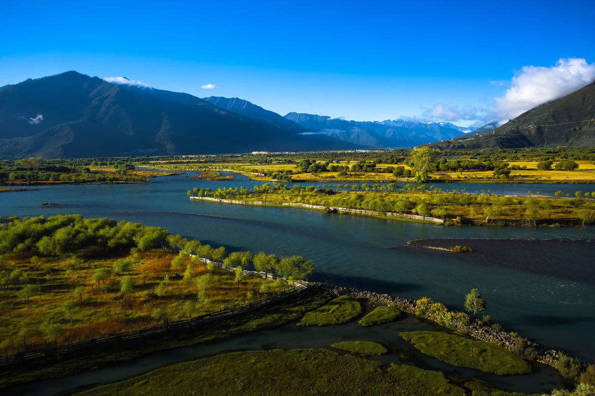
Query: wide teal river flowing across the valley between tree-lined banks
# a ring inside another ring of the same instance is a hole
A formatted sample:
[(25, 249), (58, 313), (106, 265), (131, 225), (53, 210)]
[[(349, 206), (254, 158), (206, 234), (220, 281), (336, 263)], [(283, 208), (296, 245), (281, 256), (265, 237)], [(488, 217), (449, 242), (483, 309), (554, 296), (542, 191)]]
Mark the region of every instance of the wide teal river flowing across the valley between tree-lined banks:
[[(411, 299), (428, 296), (453, 309), (462, 309), (465, 294), (478, 287), (493, 321), (549, 347), (595, 360), (595, 227), (443, 227), (190, 201), (186, 191), (193, 187), (262, 184), (241, 175), (225, 182), (192, 179), (194, 175), (154, 178), (146, 185), (42, 186), (37, 191), (0, 193), (0, 216), (80, 213), (137, 221), (225, 245), (228, 251), (306, 256), (316, 264), (314, 280)], [(595, 191), (595, 185), (436, 186), (469, 192), (491, 189), (496, 194)], [(453, 254), (406, 246), (414, 239), (464, 239), (478, 252)]]

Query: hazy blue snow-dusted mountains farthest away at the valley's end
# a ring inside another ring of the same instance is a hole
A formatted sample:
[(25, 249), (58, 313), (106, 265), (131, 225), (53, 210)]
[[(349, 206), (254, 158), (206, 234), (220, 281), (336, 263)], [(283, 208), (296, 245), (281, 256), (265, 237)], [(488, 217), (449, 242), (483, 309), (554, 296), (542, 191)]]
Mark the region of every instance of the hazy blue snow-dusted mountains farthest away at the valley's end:
[(289, 113), (285, 118), (303, 128), (330, 137), (370, 147), (412, 147), (462, 135), (465, 130), (451, 123), (440, 125), (435, 122), (346, 121), (306, 113)]

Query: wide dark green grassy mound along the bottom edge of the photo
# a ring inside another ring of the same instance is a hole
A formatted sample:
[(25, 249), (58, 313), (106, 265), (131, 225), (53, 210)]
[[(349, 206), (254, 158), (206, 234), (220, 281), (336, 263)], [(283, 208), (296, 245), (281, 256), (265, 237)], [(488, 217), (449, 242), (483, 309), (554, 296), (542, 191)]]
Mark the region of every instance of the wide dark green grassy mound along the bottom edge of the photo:
[(465, 391), (440, 372), (392, 365), (327, 350), (220, 354), (156, 369), (81, 395), (456, 395)]

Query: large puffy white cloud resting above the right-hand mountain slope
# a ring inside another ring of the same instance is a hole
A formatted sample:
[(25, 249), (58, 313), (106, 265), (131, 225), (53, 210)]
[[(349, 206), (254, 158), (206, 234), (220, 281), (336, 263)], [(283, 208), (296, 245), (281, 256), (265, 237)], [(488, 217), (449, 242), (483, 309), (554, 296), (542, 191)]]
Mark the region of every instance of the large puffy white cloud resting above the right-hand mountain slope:
[(595, 64), (583, 58), (559, 59), (552, 67), (524, 66), (512, 86), (496, 98), (500, 121), (508, 121), (541, 103), (566, 96), (595, 81)]

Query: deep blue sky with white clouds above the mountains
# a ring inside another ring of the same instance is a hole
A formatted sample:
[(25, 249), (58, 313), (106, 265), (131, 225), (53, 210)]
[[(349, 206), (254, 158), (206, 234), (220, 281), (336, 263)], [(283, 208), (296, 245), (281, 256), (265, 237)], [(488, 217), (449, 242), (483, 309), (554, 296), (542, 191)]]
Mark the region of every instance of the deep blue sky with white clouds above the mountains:
[(281, 115), (468, 126), (595, 80), (593, 0), (0, 6), (0, 87), (76, 70)]

